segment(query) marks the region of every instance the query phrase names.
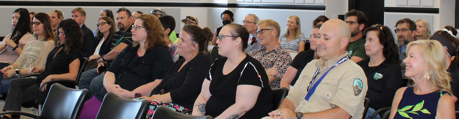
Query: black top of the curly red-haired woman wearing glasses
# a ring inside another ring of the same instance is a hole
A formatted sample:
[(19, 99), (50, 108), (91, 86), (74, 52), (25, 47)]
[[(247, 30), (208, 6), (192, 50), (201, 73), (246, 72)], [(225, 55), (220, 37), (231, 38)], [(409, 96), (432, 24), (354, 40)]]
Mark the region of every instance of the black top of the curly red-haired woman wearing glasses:
[(139, 45), (128, 46), (113, 60), (107, 71), (115, 74), (115, 84), (128, 91), (163, 79), (166, 71), (174, 64), (169, 50), (157, 45), (155, 49), (147, 49), (141, 57), (136, 57)]

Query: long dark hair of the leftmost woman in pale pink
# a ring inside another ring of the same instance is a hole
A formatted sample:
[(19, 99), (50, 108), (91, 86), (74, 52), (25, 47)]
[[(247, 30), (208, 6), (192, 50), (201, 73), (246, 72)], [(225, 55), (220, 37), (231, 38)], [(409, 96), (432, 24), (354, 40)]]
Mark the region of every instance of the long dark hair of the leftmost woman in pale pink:
[(21, 39), (24, 34), (27, 34), (27, 32), (31, 32), (32, 30), (30, 28), (30, 16), (28, 10), (19, 8), (16, 9), (13, 14), (16, 12), (19, 13), (19, 20), (17, 20), (16, 27), (14, 27), (10, 39), (13, 40), (14, 43), (19, 44), (19, 39)]

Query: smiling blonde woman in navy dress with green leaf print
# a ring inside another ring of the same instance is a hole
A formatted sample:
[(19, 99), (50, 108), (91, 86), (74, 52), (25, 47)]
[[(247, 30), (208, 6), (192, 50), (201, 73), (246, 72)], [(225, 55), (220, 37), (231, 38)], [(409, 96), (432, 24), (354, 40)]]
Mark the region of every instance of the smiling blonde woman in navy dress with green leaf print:
[(397, 90), (389, 119), (456, 119), (443, 45), (417, 40), (406, 51), (405, 76), (414, 84)]

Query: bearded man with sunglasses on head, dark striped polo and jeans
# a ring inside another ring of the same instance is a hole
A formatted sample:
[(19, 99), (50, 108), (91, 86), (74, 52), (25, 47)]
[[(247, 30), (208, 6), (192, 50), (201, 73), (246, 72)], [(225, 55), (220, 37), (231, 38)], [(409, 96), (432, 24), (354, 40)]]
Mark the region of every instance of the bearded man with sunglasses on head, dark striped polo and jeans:
[[(107, 54), (103, 55), (101, 59), (97, 61), (97, 68), (83, 72), (80, 78), (78, 87), (80, 89), (95, 89), (97, 87), (103, 87), (102, 81), (104, 79), (103, 73), (105, 67), (108, 67), (115, 57), (128, 45), (133, 44), (132, 41), (132, 25), (134, 24), (134, 18), (132, 17), (131, 11), (126, 8), (119, 8), (116, 13), (116, 23), (119, 31), (115, 32), (112, 37), (112, 49)], [(101, 72), (99, 71), (101, 69)], [(102, 75), (101, 75), (102, 74)], [(90, 88), (94, 87), (94, 88)], [(100, 88), (99, 88), (100, 89)], [(95, 92), (91, 92), (94, 95)], [(91, 95), (91, 96), (92, 96)]]

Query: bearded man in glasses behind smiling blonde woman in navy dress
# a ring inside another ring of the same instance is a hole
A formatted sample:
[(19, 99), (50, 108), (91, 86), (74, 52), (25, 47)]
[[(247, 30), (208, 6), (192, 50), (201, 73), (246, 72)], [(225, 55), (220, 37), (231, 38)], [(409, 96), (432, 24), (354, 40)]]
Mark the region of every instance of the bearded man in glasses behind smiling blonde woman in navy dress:
[(397, 33), (397, 42), (398, 42), (398, 55), (400, 60), (400, 67), (402, 68), (402, 76), (405, 77), (405, 63), (403, 59), (406, 58), (406, 46), (408, 43), (413, 42), (414, 31), (416, 31), (416, 24), (409, 18), (404, 18), (397, 21), (395, 25), (396, 29), (394, 30)]

